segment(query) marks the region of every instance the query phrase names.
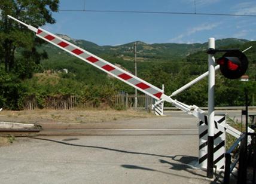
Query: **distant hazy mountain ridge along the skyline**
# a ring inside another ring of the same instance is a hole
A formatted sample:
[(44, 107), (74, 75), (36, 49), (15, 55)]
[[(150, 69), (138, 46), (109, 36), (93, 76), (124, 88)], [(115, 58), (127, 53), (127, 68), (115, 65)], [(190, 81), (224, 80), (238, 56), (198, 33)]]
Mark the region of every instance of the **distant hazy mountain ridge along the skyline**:
[[(72, 39), (66, 35), (60, 35), (63, 39), (66, 39), (72, 42), (75, 45), (78, 45), (81, 48), (89, 51), (90, 53), (100, 55), (100, 56), (113, 56), (120, 58), (122, 60), (133, 61), (133, 44), (134, 42), (130, 42), (123, 45), (117, 46), (100, 46), (93, 42), (89, 42), (83, 39)], [(197, 51), (205, 50), (207, 48), (208, 43), (203, 44), (174, 44), (174, 43), (166, 43), (166, 44), (147, 44), (145, 42), (137, 41), (137, 51), (138, 51), (138, 62), (145, 61), (157, 61), (164, 60), (166, 62), (176, 61), (184, 59), (189, 54), (196, 53)], [(249, 42), (246, 39), (236, 39), (236, 38), (227, 38), (227, 39), (218, 39), (216, 41), (216, 47), (225, 47), (227, 45), (242, 45), (246, 42)], [(64, 53), (59, 50), (59, 48), (54, 47), (53, 45), (47, 44), (44, 45), (41, 49), (44, 49), (49, 54), (50, 59), (56, 57), (59, 58), (71, 57), (69, 54)]]

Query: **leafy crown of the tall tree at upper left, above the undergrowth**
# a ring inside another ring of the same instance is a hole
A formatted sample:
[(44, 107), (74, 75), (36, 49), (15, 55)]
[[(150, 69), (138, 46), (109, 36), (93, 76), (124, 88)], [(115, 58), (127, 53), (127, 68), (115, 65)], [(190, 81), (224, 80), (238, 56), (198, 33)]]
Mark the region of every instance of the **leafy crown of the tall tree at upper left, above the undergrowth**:
[[(0, 2), (0, 63), (4, 63), (6, 72), (20, 73), (21, 71), (22, 78), (32, 76), (33, 68), (42, 58), (47, 57), (44, 51), (42, 53), (36, 51), (36, 47), (43, 41), (37, 39), (26, 27), (8, 19), (7, 15), (36, 27), (46, 23), (53, 24), (55, 20), (51, 13), (58, 11), (58, 4), (59, 0), (5, 0)], [(21, 53), (19, 59), (17, 59), (17, 50)]]

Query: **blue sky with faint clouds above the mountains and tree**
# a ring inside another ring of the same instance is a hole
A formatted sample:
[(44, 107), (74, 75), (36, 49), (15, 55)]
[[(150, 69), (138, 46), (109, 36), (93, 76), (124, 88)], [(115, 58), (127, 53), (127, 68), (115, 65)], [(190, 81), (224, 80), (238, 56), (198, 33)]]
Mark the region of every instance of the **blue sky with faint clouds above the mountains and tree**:
[(43, 28), (98, 45), (191, 44), (207, 42), (210, 37), (256, 39), (256, 17), (62, 11), (84, 8), (256, 15), (255, 0), (60, 0), (60, 11), (53, 13), (56, 23)]

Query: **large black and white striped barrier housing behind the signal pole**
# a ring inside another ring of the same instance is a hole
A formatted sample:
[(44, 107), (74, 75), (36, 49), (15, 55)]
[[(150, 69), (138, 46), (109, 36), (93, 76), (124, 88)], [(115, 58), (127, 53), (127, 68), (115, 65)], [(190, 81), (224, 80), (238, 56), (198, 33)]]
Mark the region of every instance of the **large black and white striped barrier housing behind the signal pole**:
[[(216, 115), (214, 128), (214, 166), (223, 170), (225, 165), (225, 115)], [(222, 126), (221, 126), (222, 125)], [(199, 165), (207, 168), (208, 149), (208, 116), (199, 122)]]

